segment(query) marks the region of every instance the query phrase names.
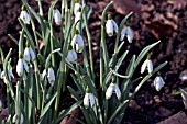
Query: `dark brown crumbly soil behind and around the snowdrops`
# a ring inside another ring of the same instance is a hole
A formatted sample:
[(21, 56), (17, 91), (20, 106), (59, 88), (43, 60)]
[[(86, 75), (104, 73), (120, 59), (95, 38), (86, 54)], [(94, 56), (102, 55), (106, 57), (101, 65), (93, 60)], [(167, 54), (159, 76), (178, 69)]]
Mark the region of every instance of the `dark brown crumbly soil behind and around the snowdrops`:
[[(134, 3), (136, 2), (139, 2), (136, 9), (140, 9), (140, 11), (135, 12), (129, 21), (135, 37), (131, 45), (125, 43), (124, 48), (131, 50), (130, 55), (138, 54), (144, 46), (161, 40), (162, 43), (151, 50), (152, 60), (155, 66), (165, 60), (168, 61), (168, 65), (161, 71), (166, 82), (165, 87), (157, 92), (153, 87), (154, 77), (150, 79), (131, 101), (131, 105), (125, 112), (124, 124), (155, 124), (184, 110), (180, 95), (174, 95), (173, 92), (187, 87), (187, 83), (179, 79), (180, 72), (187, 69), (187, 5), (186, 2), (183, 5), (176, 5), (166, 2), (166, 0), (134, 0)], [(89, 20), (94, 58), (99, 57), (100, 19), (107, 3), (107, 0), (88, 2), (94, 8), (94, 13)], [(30, 4), (37, 5), (35, 1)], [(18, 46), (8, 37), (8, 34), (12, 34), (19, 40), (21, 27), (18, 16), (21, 5), (20, 0), (0, 0), (0, 45), (6, 53), (9, 48), (13, 48), (13, 65), (16, 64), (18, 59)], [(47, 10), (46, 7), (50, 5), (50, 2), (44, 0), (44, 5)], [(134, 8), (129, 8), (127, 13), (134, 10)], [(109, 9), (118, 24), (124, 18), (123, 13), (118, 13), (120, 7), (118, 5)], [(111, 37), (107, 41), (110, 55), (113, 53), (113, 40), (114, 37)], [(128, 63), (129, 60), (125, 60), (121, 68), (125, 68)], [(98, 60), (95, 65), (97, 70), (99, 68)], [(15, 71), (15, 68), (13, 70)], [(119, 72), (124, 74), (123, 69)], [(1, 100), (6, 100), (4, 89), (2, 80), (0, 80)], [(67, 98), (63, 98), (63, 108), (73, 103), (69, 94)]]

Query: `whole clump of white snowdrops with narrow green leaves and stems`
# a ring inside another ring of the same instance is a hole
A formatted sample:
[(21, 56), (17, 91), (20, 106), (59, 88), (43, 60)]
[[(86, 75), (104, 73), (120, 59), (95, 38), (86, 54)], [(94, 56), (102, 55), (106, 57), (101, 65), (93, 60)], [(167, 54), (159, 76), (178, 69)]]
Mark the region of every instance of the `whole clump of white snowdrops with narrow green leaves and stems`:
[[(112, 16), (107, 15), (107, 10), (112, 4), (110, 2), (103, 10), (101, 19), (100, 81), (96, 82), (91, 35), (88, 29), (91, 8), (86, 7), (84, 0), (81, 2), (73, 0), (70, 9), (68, 9), (69, 1), (62, 0), (62, 8), (58, 10), (55, 8), (57, 1), (53, 1), (50, 7), (47, 19), (44, 16), (41, 0), (37, 0), (38, 12), (35, 12), (25, 0), (22, 0), (23, 7), (18, 18), (22, 26), (20, 38), (15, 40), (9, 34), (19, 46), (16, 74), (12, 72), (10, 58), (12, 49), (9, 50), (7, 56), (1, 49), (3, 64), (1, 78), (7, 86), (7, 106), (9, 111), (8, 117), (1, 122), (57, 124), (64, 116), (79, 106), (86, 121), (75, 119), (79, 123), (121, 123), (129, 101), (148, 78), (167, 64), (163, 63), (153, 68), (151, 56), (147, 54), (160, 41), (146, 46), (138, 56), (133, 55), (129, 66), (124, 69), (124, 74), (118, 74), (129, 53), (129, 50), (125, 50), (122, 56), (118, 55), (119, 52), (123, 50), (124, 40), (128, 40), (129, 43), (133, 41), (133, 32), (128, 23), (132, 12), (118, 26)], [(30, 25), (32, 30), (28, 29)], [(37, 25), (40, 25), (40, 31), (36, 30)], [(56, 32), (54, 25), (58, 26), (61, 32)], [(86, 34), (84, 34), (84, 30)], [(109, 58), (106, 41), (114, 35), (114, 54)], [(86, 42), (88, 43), (89, 56), (86, 54)], [(84, 56), (81, 65), (77, 61), (77, 54)], [(139, 71), (136, 68), (142, 60), (144, 63), (141, 74), (146, 69), (148, 74), (145, 77), (134, 78), (133, 74)], [(77, 94), (75, 89), (67, 86), (69, 72), (72, 72), (70, 76), (80, 94)], [(15, 76), (18, 82), (14, 91), (11, 81)], [(138, 83), (138, 87), (129, 95), (134, 82)], [(161, 90), (164, 86), (160, 72), (154, 80), (154, 86), (156, 90)], [(58, 109), (61, 94), (66, 90), (66, 87), (77, 102), (61, 112)], [(99, 89), (99, 93), (97, 89)]]

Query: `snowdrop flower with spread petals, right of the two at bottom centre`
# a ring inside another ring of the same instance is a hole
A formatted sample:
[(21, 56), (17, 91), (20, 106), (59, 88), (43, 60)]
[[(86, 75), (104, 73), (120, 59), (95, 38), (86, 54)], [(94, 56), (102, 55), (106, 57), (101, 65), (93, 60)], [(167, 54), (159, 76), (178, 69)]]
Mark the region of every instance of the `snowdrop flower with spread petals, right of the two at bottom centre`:
[(106, 99), (110, 99), (113, 92), (117, 93), (117, 98), (120, 100), (121, 99), (121, 91), (120, 91), (117, 83), (110, 83), (110, 86), (109, 86), (109, 88), (107, 89), (107, 92), (106, 92)]

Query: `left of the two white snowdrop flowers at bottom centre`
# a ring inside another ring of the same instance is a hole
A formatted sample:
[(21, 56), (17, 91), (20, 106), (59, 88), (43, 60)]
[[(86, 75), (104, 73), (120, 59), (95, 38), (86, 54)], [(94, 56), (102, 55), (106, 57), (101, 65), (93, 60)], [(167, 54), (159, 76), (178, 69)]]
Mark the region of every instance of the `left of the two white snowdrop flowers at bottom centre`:
[(86, 94), (84, 98), (84, 105), (87, 109), (89, 105), (91, 105), (91, 108), (95, 104), (95, 97), (89, 92), (89, 88), (87, 87), (86, 89)]

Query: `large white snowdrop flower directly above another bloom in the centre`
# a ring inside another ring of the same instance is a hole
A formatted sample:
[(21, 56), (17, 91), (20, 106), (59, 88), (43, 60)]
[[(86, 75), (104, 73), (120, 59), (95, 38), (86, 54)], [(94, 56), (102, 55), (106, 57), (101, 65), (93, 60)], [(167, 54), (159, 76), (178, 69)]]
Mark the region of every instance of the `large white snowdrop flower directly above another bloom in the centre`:
[[(81, 53), (84, 49), (84, 38), (78, 33), (78, 30), (76, 30), (75, 35), (72, 40), (72, 46), (74, 49), (76, 49), (78, 53)], [(76, 47), (75, 47), (76, 46)]]

